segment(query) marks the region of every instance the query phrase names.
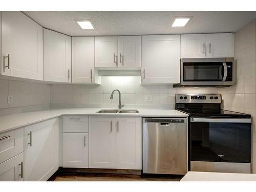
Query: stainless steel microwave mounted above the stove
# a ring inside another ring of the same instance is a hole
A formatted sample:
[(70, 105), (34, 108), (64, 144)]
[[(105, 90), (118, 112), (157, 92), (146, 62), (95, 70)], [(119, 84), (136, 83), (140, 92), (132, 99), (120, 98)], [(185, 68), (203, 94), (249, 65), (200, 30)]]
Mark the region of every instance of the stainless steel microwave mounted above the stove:
[(226, 87), (234, 84), (234, 58), (183, 58), (174, 87)]

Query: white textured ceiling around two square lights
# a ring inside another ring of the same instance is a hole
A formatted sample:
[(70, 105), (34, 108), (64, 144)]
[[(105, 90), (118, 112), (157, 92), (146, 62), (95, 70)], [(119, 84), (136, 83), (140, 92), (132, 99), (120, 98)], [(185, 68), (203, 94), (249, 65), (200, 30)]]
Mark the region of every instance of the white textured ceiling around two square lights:
[[(256, 11), (24, 11), (42, 27), (70, 36), (237, 32), (256, 19)], [(172, 27), (175, 16), (193, 16)], [(75, 19), (90, 19), (96, 29), (81, 29)]]

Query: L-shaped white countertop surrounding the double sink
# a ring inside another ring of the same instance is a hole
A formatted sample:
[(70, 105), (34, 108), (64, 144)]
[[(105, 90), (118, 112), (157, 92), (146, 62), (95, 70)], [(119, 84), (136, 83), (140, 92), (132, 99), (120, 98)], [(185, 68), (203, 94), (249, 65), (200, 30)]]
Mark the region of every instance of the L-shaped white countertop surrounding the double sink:
[[(47, 111), (35, 111), (18, 113), (0, 117), (0, 133), (26, 126), (32, 123), (51, 119), (62, 115), (98, 115), (98, 116), (142, 116), (142, 117), (187, 117), (188, 115), (177, 110), (138, 109), (139, 113), (97, 113), (98, 108), (69, 108), (50, 109)], [(125, 109), (127, 110), (127, 109)]]

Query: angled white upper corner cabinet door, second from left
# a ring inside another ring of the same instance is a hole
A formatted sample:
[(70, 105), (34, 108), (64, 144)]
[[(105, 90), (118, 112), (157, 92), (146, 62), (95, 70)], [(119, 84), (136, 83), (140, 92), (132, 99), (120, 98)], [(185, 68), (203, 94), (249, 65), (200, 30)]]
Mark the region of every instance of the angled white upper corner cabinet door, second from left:
[(71, 82), (71, 37), (44, 29), (44, 80)]

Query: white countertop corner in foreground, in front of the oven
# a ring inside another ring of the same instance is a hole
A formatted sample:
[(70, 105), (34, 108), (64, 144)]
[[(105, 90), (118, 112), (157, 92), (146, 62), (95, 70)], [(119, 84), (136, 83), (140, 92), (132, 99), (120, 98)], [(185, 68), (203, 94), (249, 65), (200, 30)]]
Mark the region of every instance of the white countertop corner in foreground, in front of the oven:
[(256, 181), (256, 174), (188, 172), (180, 181)]

